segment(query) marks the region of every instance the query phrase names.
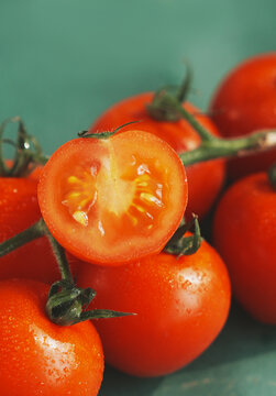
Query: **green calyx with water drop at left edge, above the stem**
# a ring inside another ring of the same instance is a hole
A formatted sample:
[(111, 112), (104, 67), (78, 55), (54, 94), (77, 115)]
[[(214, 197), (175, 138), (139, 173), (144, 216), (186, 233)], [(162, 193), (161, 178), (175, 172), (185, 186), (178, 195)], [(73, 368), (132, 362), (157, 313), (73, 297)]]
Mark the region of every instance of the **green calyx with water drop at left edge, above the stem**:
[[(18, 123), (18, 136), (13, 141), (4, 139), (4, 130), (10, 123)], [(14, 157), (12, 165), (8, 166), (4, 161), (3, 144), (12, 146)], [(45, 164), (48, 157), (42, 152), (36, 139), (30, 135), (20, 117), (4, 120), (0, 124), (0, 176), (1, 177), (24, 177), (30, 175), (38, 164)]]

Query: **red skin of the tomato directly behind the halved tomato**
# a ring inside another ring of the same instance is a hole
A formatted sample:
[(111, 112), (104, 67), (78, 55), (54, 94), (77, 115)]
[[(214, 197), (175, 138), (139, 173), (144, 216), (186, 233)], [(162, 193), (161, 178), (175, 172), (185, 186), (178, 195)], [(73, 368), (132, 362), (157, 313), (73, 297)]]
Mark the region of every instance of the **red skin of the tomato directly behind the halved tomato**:
[[(150, 117), (146, 106), (153, 100), (153, 92), (140, 94), (124, 99), (104, 111), (90, 127), (89, 132), (112, 131), (130, 122), (140, 121), (137, 129), (151, 132), (165, 140), (179, 154), (196, 148), (200, 143), (197, 132), (185, 120), (178, 122), (156, 121)], [(210, 119), (200, 114), (195, 106), (185, 102), (185, 108), (195, 114), (196, 119), (210, 131), (218, 135), (218, 131)], [(124, 127), (122, 131), (133, 129), (133, 124)], [(208, 161), (186, 167), (188, 178), (189, 198), (185, 212), (187, 219), (191, 213), (202, 218), (216, 200), (224, 182), (224, 161)], [(203, 193), (202, 193), (203, 186)], [(203, 199), (202, 199), (203, 194)]]

